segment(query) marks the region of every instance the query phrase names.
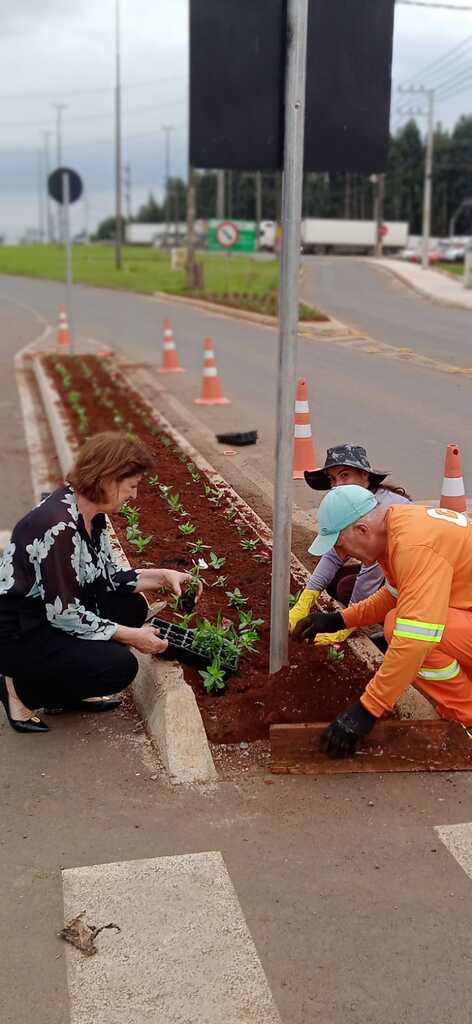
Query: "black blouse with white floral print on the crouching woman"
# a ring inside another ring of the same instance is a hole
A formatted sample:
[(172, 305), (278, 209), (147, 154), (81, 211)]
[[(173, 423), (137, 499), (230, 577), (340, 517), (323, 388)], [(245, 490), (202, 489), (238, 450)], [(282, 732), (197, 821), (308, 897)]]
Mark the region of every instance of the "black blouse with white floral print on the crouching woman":
[(137, 578), (116, 562), (105, 516), (94, 516), (90, 537), (73, 488), (54, 490), (16, 523), (0, 559), (0, 638), (49, 623), (83, 640), (110, 640), (118, 627), (100, 616), (100, 595), (134, 591)]

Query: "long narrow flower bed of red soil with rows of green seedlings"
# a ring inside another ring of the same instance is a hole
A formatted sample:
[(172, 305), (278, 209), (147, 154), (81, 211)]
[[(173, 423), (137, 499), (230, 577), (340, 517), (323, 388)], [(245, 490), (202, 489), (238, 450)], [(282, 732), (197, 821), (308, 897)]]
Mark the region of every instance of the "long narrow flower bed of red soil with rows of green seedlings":
[[(331, 662), (327, 648), (291, 642), (290, 666), (268, 674), (270, 549), (241, 519), (230, 492), (198, 469), (124, 377), (95, 356), (46, 356), (44, 367), (62, 400), (74, 443), (100, 430), (125, 429), (139, 435), (154, 456), (137, 512), (125, 509), (113, 517), (131, 564), (194, 567), (205, 581), (199, 617), (219, 618), (220, 627), (232, 624), (226, 635), (239, 644), (240, 664), (225, 676), (224, 688), (214, 680), (214, 692), (207, 692), (212, 680), (184, 665), (209, 739), (255, 740), (267, 736), (274, 722), (329, 721), (355, 700), (369, 670), (349, 649), (342, 662)], [(207, 567), (199, 566), (200, 559)], [(293, 582), (292, 590), (298, 586)], [(182, 623), (182, 609), (171, 605), (161, 614)], [(198, 618), (183, 618), (183, 625), (195, 627)]]

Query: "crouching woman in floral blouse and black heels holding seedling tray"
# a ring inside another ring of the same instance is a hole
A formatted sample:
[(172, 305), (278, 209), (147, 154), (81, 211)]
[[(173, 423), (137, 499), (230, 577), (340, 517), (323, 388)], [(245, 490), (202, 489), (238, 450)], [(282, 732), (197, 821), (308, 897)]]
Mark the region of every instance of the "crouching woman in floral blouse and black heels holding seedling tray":
[(166, 649), (145, 625), (142, 595), (162, 587), (179, 595), (189, 574), (121, 568), (105, 520), (135, 501), (151, 467), (137, 439), (96, 434), (67, 485), (16, 523), (0, 560), (0, 700), (16, 731), (47, 732), (37, 708), (116, 708), (120, 700), (106, 695), (126, 689), (138, 670), (131, 648)]

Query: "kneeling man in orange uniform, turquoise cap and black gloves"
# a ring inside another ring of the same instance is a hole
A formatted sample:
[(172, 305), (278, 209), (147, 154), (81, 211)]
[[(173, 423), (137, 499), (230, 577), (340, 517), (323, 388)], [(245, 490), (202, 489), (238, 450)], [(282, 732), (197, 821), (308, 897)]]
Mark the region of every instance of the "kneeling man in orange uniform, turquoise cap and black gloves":
[(472, 522), (447, 509), (379, 506), (354, 485), (323, 500), (319, 534), (310, 548), (376, 561), (385, 586), (342, 612), (315, 612), (298, 637), (384, 622), (389, 647), (360, 701), (338, 716), (321, 738), (332, 757), (353, 754), (376, 720), (414, 683), (442, 718), (472, 726)]

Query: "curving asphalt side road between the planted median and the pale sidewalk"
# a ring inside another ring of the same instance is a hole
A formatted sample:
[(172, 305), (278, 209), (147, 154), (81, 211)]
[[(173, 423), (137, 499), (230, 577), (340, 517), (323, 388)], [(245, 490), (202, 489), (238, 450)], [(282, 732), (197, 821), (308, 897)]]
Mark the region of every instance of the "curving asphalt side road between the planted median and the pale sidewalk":
[(305, 257), (303, 294), (378, 341), (472, 367), (472, 312), (431, 302), (362, 259)]

